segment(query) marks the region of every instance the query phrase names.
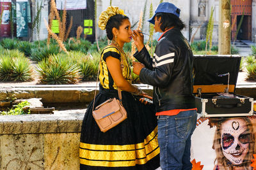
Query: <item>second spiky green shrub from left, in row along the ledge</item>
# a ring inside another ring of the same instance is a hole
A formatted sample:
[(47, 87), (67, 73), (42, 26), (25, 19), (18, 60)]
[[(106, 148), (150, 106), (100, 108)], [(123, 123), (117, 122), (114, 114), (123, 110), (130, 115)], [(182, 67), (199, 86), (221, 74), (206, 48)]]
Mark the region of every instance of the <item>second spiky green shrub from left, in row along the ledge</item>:
[(74, 84), (81, 80), (81, 69), (63, 53), (51, 55), (38, 63), (40, 83), (50, 85)]

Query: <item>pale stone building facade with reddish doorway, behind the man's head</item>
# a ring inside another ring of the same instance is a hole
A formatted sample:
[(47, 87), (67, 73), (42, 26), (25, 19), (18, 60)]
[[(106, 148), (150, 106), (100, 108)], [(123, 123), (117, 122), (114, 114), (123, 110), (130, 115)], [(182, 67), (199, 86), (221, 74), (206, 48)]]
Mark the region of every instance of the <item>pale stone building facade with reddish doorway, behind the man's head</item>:
[[(134, 24), (140, 19), (140, 13), (143, 11), (145, 2), (146, 15), (149, 18), (150, 3), (155, 10), (159, 4), (159, 0), (112, 0), (113, 6), (119, 6), (125, 11), (125, 14), (130, 18), (131, 24)], [(207, 24), (211, 15), (211, 8), (214, 10), (214, 28), (212, 41), (218, 41), (218, 20), (219, 20), (219, 1), (218, 0), (165, 0), (171, 2), (180, 8), (180, 18), (186, 25), (186, 29), (182, 32), (187, 39), (192, 37), (195, 40), (205, 39)], [(234, 41), (237, 28), (241, 22), (239, 31), (237, 32), (237, 39), (244, 39), (256, 42), (256, 0), (230, 0), (231, 6), (231, 27), (232, 27), (232, 41)], [(97, 0), (97, 16), (99, 18), (100, 11), (106, 10), (109, 6), (109, 0)], [(143, 31), (148, 32), (149, 24), (145, 19)], [(98, 29), (100, 35), (104, 32)], [(147, 37), (145, 37), (147, 38)]]

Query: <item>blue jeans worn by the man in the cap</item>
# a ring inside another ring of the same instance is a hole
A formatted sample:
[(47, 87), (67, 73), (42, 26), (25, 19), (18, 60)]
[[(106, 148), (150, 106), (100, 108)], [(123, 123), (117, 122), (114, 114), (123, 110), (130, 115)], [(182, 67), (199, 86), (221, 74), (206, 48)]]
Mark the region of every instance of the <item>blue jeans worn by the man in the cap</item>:
[(174, 116), (158, 116), (158, 143), (162, 170), (192, 169), (191, 135), (196, 127), (195, 110)]

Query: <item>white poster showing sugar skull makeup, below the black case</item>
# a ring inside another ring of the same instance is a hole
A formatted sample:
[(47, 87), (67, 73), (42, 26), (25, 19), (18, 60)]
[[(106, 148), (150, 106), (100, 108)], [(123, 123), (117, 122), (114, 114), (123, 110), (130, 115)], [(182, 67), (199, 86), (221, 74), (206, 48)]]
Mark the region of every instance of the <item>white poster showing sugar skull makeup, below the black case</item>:
[(255, 128), (255, 116), (203, 118), (198, 115), (191, 137), (191, 160), (200, 162), (207, 170), (256, 168)]

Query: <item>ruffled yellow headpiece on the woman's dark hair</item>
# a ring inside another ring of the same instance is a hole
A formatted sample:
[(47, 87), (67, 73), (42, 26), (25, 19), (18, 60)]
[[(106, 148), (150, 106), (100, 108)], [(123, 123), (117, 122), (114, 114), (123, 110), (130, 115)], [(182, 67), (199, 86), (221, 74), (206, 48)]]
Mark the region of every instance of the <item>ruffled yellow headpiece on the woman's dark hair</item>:
[(124, 15), (124, 10), (119, 9), (117, 6), (109, 6), (106, 11), (103, 11), (100, 14), (99, 21), (98, 21), (98, 25), (100, 29), (102, 30), (106, 29), (106, 25), (109, 18), (116, 14)]

